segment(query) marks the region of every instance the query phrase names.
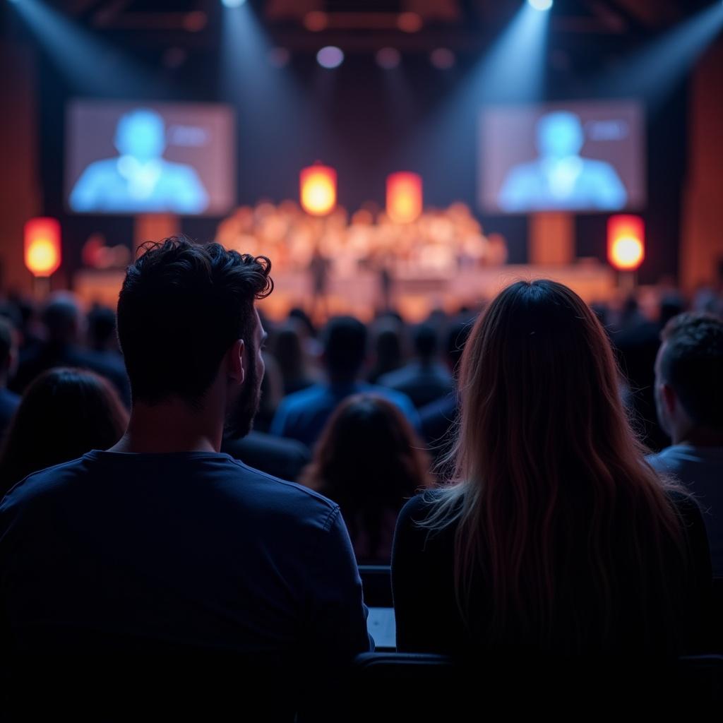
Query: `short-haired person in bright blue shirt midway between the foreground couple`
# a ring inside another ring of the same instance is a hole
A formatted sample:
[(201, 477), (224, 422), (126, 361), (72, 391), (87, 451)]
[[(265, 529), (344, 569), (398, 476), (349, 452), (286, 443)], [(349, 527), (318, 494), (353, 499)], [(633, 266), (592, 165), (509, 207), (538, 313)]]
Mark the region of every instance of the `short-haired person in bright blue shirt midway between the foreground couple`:
[(324, 330), (322, 364), (328, 379), (288, 395), (278, 407), (272, 435), (289, 437), (312, 448), (339, 404), (354, 394), (377, 393), (398, 406), (416, 429), (419, 416), (408, 396), (392, 389), (361, 382), (367, 358), (367, 328), (354, 317), (334, 317)]

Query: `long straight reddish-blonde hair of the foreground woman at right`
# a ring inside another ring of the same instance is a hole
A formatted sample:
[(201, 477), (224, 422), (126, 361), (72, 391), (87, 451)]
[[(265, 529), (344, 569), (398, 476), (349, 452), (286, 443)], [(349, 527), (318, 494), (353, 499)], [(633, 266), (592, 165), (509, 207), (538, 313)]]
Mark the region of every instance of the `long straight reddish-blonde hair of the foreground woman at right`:
[(554, 281), (513, 283), (471, 332), (455, 484), (423, 524), (458, 523), (458, 605), (473, 625), (471, 580), (483, 570), (490, 641), (558, 646), (564, 629), (579, 652), (604, 647), (630, 609), (646, 621), (677, 607), (665, 576), (685, 565), (680, 523), (630, 429), (618, 378), (599, 321)]

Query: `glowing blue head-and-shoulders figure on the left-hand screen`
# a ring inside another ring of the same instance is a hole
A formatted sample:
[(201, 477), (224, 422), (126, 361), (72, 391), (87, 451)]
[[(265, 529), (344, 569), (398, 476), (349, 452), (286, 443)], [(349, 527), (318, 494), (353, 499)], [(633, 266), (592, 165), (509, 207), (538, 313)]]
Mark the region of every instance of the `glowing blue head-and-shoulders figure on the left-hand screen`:
[(118, 158), (95, 161), (70, 194), (74, 211), (201, 213), (208, 193), (195, 169), (163, 159), (166, 129), (155, 111), (138, 108), (116, 128)]

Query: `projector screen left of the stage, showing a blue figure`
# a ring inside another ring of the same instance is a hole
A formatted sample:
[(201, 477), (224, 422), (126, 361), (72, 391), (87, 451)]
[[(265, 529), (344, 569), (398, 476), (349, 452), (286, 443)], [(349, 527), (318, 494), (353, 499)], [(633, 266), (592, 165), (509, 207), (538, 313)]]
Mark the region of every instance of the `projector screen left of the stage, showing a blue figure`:
[(236, 197), (235, 156), (228, 106), (75, 100), (67, 205), (76, 213), (222, 215)]

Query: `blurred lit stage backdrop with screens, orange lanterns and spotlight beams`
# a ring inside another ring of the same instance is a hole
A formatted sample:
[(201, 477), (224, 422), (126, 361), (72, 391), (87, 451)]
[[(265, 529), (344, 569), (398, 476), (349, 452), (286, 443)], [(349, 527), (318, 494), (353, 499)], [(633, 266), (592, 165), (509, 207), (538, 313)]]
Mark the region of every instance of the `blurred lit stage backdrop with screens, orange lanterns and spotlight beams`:
[(0, 284), (115, 304), (184, 233), (268, 255), (272, 317), (717, 285), (722, 27), (719, 0), (5, 0)]

